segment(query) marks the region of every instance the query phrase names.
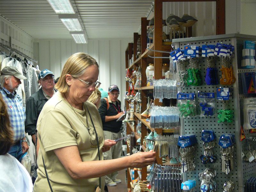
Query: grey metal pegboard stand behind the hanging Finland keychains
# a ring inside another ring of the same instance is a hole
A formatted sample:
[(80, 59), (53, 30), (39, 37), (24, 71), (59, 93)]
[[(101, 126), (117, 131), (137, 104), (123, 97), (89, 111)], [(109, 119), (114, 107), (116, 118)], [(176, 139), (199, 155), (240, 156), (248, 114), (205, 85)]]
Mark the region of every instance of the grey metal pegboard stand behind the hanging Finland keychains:
[[(175, 49), (180, 48), (180, 50), (184, 50), (185, 45), (196, 45), (201, 46), (206, 44), (217, 44), (218, 42), (223, 42), (224, 44), (232, 44), (235, 47), (235, 57), (232, 61), (232, 67), (234, 70), (234, 75), (236, 77), (236, 82), (233, 85), (207, 85), (205, 84), (204, 77), (206, 74), (207, 62), (205, 58), (201, 58), (199, 63), (200, 73), (202, 77), (203, 84), (201, 86), (188, 86), (179, 88), (178, 91), (183, 93), (197, 93), (200, 92), (215, 92), (217, 88), (231, 88), (231, 96), (232, 100), (229, 100), (228, 109), (234, 112), (234, 121), (232, 123), (223, 122), (218, 123), (217, 116), (215, 117), (193, 117), (193, 118), (182, 118), (180, 133), (181, 134), (195, 134), (197, 138), (197, 150), (195, 153), (195, 161), (196, 161), (196, 169), (191, 172), (187, 172), (184, 176), (187, 176), (188, 179), (196, 179), (196, 191), (200, 191), (201, 181), (199, 180), (198, 174), (203, 172), (206, 167), (216, 170), (217, 175), (214, 179), (217, 182), (217, 192), (223, 192), (223, 184), (228, 180), (233, 180), (236, 184), (234, 191), (236, 192), (244, 192), (244, 183), (248, 176), (255, 175), (256, 173), (256, 163), (245, 163), (242, 161), (242, 150), (246, 147), (246, 140), (240, 141), (240, 125), (243, 125), (240, 121), (240, 116), (243, 116), (242, 107), (240, 107), (240, 98), (242, 99), (242, 94), (239, 94), (239, 78), (238, 73), (240, 72), (250, 72), (256, 71), (255, 69), (238, 69), (241, 68), (241, 58), (242, 58), (242, 49), (243, 49), (243, 41), (244, 40), (256, 40), (256, 36), (247, 36), (242, 34), (228, 34), (228, 35), (219, 35), (219, 36), (204, 36), (204, 37), (194, 37), (194, 38), (184, 38), (184, 39), (174, 39), (172, 41), (172, 45)], [(218, 58), (215, 62), (216, 68), (218, 70), (219, 80), (221, 78), (221, 60)], [(178, 67), (177, 67), (178, 71)], [(220, 83), (220, 81), (219, 81)], [(242, 103), (241, 103), (241, 106)], [(222, 109), (221, 100), (216, 100), (216, 111), (218, 109)], [(240, 115), (241, 114), (241, 115)], [(200, 160), (200, 155), (204, 154), (203, 141), (201, 141), (201, 133), (202, 130), (213, 130), (216, 134), (215, 147), (213, 149), (213, 154), (218, 157), (216, 163), (213, 164), (202, 164)], [(245, 135), (249, 136), (249, 131), (244, 130)], [(235, 150), (233, 152), (234, 157), (234, 169), (230, 171), (227, 175), (221, 172), (221, 156), (220, 156), (220, 146), (218, 145), (218, 141), (220, 135), (223, 133), (231, 133), (235, 135), (236, 144), (234, 145)]]

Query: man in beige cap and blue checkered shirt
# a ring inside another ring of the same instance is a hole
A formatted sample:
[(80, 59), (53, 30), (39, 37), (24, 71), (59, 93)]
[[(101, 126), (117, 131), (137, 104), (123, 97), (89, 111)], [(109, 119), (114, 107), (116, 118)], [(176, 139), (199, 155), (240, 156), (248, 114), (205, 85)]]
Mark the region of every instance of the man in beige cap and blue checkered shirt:
[(16, 92), (21, 84), (20, 79), (27, 78), (16, 67), (8, 66), (0, 72), (0, 93), (8, 108), (15, 141), (8, 153), (21, 162), (22, 153), (27, 152), (29, 147), (25, 137), (25, 108), (22, 106), (20, 95)]

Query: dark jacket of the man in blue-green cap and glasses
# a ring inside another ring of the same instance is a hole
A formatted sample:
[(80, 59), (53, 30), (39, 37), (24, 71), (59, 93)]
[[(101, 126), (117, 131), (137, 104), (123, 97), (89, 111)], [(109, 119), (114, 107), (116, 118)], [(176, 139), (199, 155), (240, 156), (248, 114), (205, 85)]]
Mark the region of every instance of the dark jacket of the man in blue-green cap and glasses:
[(44, 97), (42, 88), (28, 98), (26, 104), (25, 132), (29, 135), (36, 134), (37, 119), (47, 101), (48, 99)]

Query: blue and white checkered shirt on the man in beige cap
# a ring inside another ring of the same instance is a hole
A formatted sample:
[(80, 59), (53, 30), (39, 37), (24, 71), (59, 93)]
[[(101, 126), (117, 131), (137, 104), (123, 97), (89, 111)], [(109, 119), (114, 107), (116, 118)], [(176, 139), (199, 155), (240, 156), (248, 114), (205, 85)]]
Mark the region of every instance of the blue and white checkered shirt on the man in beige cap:
[(14, 141), (22, 140), (25, 137), (25, 120), (26, 120), (26, 113), (25, 113), (25, 108), (22, 106), (22, 99), (18, 94), (15, 95), (13, 98), (7, 97), (3, 89), (8, 94), (13, 94), (13, 93), (9, 92), (4, 87), (0, 89), (0, 92), (8, 108), (8, 114), (10, 116), (10, 122), (14, 132)]

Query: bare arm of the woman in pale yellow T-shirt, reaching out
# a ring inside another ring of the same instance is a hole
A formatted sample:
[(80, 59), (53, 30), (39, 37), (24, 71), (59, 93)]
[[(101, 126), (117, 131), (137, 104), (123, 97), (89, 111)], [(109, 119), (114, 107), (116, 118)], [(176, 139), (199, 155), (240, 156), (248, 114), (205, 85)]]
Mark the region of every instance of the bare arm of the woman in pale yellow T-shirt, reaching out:
[(156, 159), (156, 152), (150, 151), (112, 160), (83, 162), (77, 146), (55, 149), (54, 153), (73, 179), (101, 177), (127, 167), (145, 167)]

